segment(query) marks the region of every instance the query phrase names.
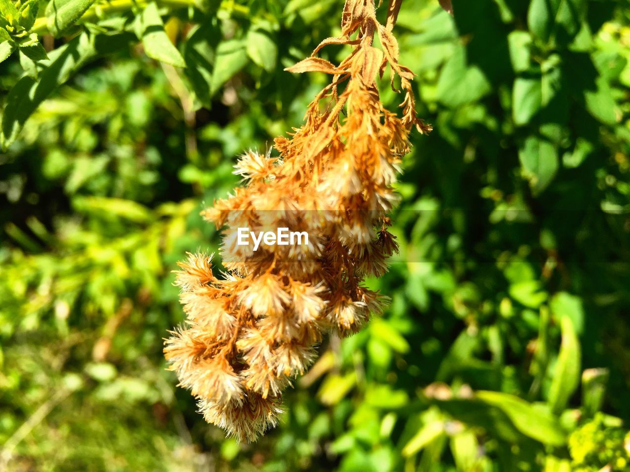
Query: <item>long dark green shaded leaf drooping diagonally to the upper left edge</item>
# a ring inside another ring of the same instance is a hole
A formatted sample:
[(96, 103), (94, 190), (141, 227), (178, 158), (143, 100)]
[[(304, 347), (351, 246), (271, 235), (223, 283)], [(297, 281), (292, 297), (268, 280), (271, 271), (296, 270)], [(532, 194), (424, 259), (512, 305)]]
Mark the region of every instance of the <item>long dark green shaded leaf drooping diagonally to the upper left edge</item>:
[(47, 68), (38, 80), (22, 77), (9, 91), (2, 117), (0, 144), (6, 149), (18, 136), (28, 117), (50, 93), (64, 84), (77, 70), (99, 55), (127, 45), (130, 35), (92, 36), (89, 33), (74, 38), (50, 53), (42, 61)]

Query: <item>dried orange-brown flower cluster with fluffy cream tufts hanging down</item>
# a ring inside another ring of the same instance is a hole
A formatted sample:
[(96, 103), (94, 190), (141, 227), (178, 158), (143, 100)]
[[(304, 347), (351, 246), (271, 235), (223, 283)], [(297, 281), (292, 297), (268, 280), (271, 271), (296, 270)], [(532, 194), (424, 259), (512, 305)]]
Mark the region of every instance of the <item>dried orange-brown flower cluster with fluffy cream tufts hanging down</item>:
[[(311, 364), (323, 332), (352, 334), (381, 310), (382, 297), (362, 281), (381, 276), (397, 250), (387, 231), (392, 184), (411, 128), (430, 130), (416, 118), (413, 74), (398, 63), (391, 33), (397, 3), (384, 26), (374, 0), (346, 1), (341, 36), (288, 69), (333, 76), (304, 126), (276, 138), (279, 157), (243, 155), (236, 174), (246, 185), (203, 212), (217, 228), (306, 231), (309, 245), (253, 252), (228, 235), (222, 254), (229, 273), (221, 278), (204, 254), (180, 264), (176, 283), (188, 316), (166, 340), (166, 358), (205, 419), (243, 441), (275, 425), (282, 391)], [(372, 46), (375, 34), (382, 49)], [(352, 45), (352, 52), (339, 65), (314, 57), (332, 44)], [(387, 64), (392, 87), (398, 76), (404, 94), (401, 117), (379, 99), (375, 79)]]

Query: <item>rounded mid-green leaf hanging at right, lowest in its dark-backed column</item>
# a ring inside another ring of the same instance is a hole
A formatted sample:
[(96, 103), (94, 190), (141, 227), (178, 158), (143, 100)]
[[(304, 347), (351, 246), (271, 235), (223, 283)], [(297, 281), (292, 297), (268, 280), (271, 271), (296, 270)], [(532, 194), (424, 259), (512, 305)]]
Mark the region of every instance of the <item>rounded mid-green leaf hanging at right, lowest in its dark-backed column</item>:
[(556, 147), (537, 136), (525, 140), (518, 150), (518, 159), (535, 196), (547, 188), (558, 171)]

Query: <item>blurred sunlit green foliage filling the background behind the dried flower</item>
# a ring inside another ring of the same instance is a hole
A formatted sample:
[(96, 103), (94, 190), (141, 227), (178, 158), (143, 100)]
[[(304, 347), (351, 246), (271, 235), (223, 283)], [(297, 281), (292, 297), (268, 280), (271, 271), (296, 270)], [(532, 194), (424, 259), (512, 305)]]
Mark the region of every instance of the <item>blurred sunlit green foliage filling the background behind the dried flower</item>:
[(453, 6), (394, 30), (435, 130), (391, 306), (237, 444), (165, 369), (170, 271), (218, 247), (234, 157), (301, 123), (326, 77), (282, 69), (341, 0), (0, 0), (0, 469), (630, 469), (630, 5)]

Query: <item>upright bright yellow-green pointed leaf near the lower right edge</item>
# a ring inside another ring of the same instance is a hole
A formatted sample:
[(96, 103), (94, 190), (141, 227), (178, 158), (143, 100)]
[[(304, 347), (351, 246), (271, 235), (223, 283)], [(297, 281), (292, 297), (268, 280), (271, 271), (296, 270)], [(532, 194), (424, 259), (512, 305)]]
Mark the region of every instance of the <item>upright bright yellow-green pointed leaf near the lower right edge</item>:
[(561, 413), (580, 383), (580, 341), (569, 316), (561, 318), (562, 344), (549, 387), (549, 405)]

